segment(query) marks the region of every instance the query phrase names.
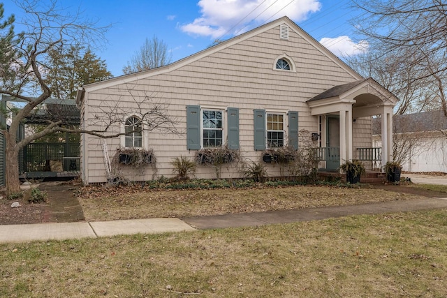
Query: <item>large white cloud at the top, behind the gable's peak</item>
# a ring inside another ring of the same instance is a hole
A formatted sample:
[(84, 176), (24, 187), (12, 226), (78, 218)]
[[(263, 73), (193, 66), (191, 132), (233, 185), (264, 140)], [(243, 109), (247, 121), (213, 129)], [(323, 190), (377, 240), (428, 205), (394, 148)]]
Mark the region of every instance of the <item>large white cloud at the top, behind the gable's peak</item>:
[(201, 16), (180, 29), (197, 36), (220, 38), (224, 34), (240, 34), (284, 15), (300, 22), (309, 13), (320, 10), (321, 3), (318, 0), (200, 0), (198, 6)]

